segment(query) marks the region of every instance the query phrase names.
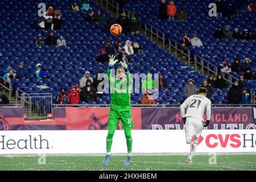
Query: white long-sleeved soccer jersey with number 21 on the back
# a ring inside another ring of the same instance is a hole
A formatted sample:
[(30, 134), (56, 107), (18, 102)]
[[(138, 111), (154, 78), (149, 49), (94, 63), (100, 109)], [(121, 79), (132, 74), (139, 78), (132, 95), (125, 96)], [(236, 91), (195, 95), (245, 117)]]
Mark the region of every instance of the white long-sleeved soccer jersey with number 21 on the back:
[(184, 101), (184, 103), (188, 105), (185, 117), (193, 117), (195, 119), (200, 119), (201, 121), (204, 121), (203, 115), (205, 107), (208, 107), (208, 109), (210, 109), (210, 105), (212, 104), (209, 98), (202, 96), (200, 94), (188, 97)]

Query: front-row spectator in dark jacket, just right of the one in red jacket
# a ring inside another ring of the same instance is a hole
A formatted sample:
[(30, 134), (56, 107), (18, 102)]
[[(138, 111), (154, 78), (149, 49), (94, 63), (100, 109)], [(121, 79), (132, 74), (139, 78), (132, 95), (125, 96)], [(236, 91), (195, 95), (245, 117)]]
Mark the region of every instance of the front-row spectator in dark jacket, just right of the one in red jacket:
[(97, 92), (92, 81), (90, 79), (86, 80), (86, 85), (82, 88), (82, 101), (97, 101)]

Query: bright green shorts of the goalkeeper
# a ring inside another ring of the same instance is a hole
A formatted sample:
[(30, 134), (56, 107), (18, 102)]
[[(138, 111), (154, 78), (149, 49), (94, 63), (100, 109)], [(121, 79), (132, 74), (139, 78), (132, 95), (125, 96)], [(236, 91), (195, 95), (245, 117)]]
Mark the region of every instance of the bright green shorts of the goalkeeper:
[(119, 120), (122, 122), (123, 129), (134, 127), (133, 119), (131, 119), (131, 111), (109, 111), (109, 125), (118, 125)]

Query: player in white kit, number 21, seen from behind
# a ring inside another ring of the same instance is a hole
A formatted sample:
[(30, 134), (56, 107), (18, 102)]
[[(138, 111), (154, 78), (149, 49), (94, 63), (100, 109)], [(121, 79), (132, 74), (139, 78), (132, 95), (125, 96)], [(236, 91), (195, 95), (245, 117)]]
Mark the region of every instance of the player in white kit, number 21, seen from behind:
[[(192, 158), (195, 154), (198, 139), (202, 133), (203, 126), (207, 127), (210, 122), (211, 102), (206, 95), (207, 89), (200, 87), (198, 94), (188, 97), (180, 106), (180, 113), (185, 125), (186, 142), (191, 146), (187, 164), (192, 163)], [(185, 114), (185, 108), (187, 107), (187, 113)], [(207, 108), (207, 121), (204, 124), (203, 115), (205, 107)], [(195, 139), (194, 141), (191, 141), (192, 137)]]

